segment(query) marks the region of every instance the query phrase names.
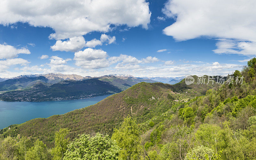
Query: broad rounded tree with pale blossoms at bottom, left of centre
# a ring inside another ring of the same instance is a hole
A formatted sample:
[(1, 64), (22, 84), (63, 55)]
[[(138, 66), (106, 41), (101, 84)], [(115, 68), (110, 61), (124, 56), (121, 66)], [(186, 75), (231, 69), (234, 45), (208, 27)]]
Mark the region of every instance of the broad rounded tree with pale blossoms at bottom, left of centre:
[(119, 147), (109, 138), (99, 133), (96, 136), (79, 135), (68, 144), (64, 160), (118, 160)]

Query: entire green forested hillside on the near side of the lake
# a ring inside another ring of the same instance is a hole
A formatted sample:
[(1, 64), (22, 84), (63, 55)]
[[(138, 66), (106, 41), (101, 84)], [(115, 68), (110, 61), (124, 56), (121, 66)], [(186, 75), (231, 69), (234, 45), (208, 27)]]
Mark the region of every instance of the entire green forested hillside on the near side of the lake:
[[(60, 159), (86, 159), (77, 150), (95, 158), (95, 150), (87, 149), (105, 143), (106, 147), (97, 150), (108, 150), (104, 155), (111, 153), (112, 159), (255, 159), (255, 63), (256, 58), (251, 59), (241, 72), (232, 74), (243, 76), (242, 84), (235, 80), (222, 85), (186, 85), (184, 80), (175, 85), (142, 82), (87, 108), (12, 125), (1, 130), (2, 142), (10, 142), (15, 148), (25, 142), (23, 137), (29, 137), (31, 146), (40, 146), (42, 141), (41, 146), (47, 145), (42, 148), (46, 148), (44, 155), (49, 154), (49, 159), (57, 155), (54, 150), (60, 134), (67, 142)], [(112, 137), (95, 135), (97, 132)], [(92, 137), (78, 136), (84, 133)], [(3, 158), (7, 155), (6, 145), (0, 148)], [(20, 148), (15, 148), (16, 159), (24, 153)], [(35, 147), (29, 150), (33, 152)], [(97, 152), (98, 159), (101, 154)]]

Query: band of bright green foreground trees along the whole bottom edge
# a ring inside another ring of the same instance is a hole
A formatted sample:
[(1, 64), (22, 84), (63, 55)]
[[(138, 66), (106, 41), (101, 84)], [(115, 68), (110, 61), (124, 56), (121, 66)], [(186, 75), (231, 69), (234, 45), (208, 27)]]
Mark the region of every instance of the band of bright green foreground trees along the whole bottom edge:
[[(255, 159), (256, 116), (249, 117), (248, 127), (232, 130), (229, 122), (222, 127), (214, 124), (168, 126), (162, 124), (150, 133), (147, 142), (141, 136), (136, 119), (128, 116), (112, 137), (96, 133), (67, 138), (68, 129), (55, 133), (53, 148), (39, 140), (0, 140), (1, 160), (165, 160), (165, 159)], [(160, 123), (161, 124), (161, 123)], [(154, 122), (149, 127), (154, 128)], [(165, 127), (163, 127), (165, 125)], [(164, 145), (162, 145), (165, 143)]]

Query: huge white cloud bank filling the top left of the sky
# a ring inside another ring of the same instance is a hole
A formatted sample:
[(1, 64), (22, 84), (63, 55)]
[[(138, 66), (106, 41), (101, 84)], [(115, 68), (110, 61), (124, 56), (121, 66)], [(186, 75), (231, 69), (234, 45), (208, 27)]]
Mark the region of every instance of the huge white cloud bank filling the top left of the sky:
[(107, 32), (110, 25), (148, 27), (151, 13), (145, 0), (2, 0), (0, 24), (28, 22), (51, 27), (50, 38), (66, 39), (92, 31)]

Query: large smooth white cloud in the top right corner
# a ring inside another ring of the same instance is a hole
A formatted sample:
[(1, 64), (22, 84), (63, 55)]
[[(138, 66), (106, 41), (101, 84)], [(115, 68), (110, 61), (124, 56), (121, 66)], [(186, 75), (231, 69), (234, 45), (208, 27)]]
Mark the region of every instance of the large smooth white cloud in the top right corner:
[(176, 40), (210, 36), (256, 42), (254, 0), (169, 0), (163, 13), (176, 22), (164, 34)]

